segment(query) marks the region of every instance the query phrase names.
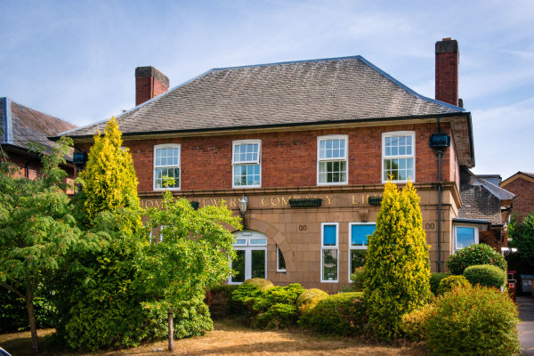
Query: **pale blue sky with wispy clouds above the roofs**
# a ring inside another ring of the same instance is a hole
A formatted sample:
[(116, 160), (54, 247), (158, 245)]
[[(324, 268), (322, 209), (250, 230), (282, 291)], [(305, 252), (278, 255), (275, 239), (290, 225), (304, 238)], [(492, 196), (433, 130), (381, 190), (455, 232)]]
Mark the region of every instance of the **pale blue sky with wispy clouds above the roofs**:
[(134, 107), (134, 69), (171, 87), (207, 69), (360, 54), (434, 96), (457, 39), (477, 174), (534, 172), (532, 1), (0, 0), (0, 97), (87, 125)]

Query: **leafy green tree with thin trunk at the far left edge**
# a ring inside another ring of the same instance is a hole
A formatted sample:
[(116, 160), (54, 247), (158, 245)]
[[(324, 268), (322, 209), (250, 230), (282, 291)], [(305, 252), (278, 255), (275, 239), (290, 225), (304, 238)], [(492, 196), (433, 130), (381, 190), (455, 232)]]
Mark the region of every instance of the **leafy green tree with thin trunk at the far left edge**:
[(24, 298), (28, 309), (32, 348), (38, 352), (34, 298), (36, 290), (68, 267), (73, 250), (91, 245), (71, 214), (60, 168), (69, 152), (61, 138), (50, 154), (43, 153), (43, 172), (36, 180), (17, 177), (15, 166), (0, 163), (0, 286)]

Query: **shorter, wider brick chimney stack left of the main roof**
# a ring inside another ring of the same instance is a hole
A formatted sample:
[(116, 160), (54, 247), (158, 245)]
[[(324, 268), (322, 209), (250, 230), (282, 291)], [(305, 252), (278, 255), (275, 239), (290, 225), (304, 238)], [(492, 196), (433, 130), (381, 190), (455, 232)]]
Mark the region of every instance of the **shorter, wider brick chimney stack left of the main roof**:
[(169, 78), (154, 67), (135, 69), (135, 106), (165, 93), (169, 89)]

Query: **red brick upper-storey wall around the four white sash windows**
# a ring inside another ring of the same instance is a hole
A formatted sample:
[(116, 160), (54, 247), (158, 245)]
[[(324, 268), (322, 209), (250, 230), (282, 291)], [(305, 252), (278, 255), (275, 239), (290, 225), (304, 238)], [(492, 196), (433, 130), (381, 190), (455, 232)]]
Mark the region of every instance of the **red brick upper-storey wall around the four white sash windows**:
[[(441, 129), (450, 134), (449, 125), (442, 124)], [(382, 133), (392, 131), (416, 132), (416, 182), (436, 182), (437, 158), (428, 147), (430, 134), (437, 132), (435, 124), (157, 139), (124, 145), (134, 158), (140, 192), (153, 190), (154, 145), (163, 143), (181, 144), (182, 190), (231, 189), (232, 141), (246, 139), (262, 140), (262, 188), (305, 187), (317, 185), (317, 137), (347, 134), (349, 184), (376, 184), (382, 182)], [(442, 159), (444, 181), (454, 180), (449, 172), (451, 151)]]

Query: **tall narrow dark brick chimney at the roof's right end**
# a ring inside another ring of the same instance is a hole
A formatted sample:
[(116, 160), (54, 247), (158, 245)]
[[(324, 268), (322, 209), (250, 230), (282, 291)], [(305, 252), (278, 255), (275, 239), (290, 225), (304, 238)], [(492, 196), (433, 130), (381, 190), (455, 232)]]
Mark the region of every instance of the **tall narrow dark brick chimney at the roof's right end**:
[(436, 42), (436, 100), (458, 106), (458, 64), (460, 53), (456, 39)]

